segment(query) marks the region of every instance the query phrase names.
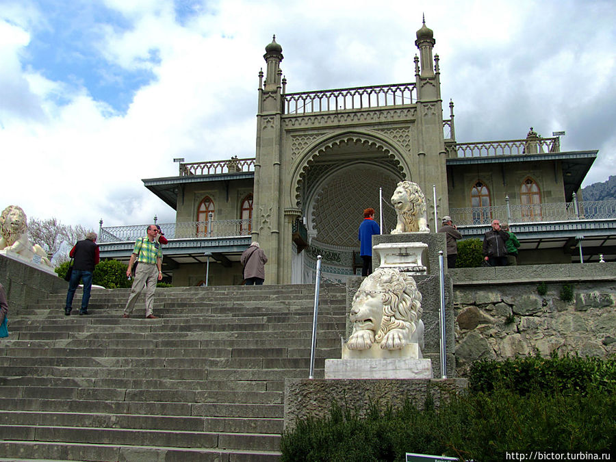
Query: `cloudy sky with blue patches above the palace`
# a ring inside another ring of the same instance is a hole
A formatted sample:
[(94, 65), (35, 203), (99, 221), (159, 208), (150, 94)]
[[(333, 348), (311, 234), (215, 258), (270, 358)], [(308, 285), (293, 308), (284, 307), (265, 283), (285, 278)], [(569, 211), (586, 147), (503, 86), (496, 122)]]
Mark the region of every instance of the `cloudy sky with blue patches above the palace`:
[(276, 34), (287, 92), (414, 81), (434, 30), (459, 142), (566, 131), (616, 175), (613, 0), (0, 0), (0, 208), (98, 229), (175, 211), (142, 179), (254, 157)]

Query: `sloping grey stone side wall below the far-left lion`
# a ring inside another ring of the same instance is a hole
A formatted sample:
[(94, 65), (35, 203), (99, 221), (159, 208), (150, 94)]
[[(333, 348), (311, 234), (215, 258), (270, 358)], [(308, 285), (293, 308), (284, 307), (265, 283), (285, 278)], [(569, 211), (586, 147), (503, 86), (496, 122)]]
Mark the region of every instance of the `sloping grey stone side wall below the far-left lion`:
[(66, 292), (68, 283), (54, 274), (39, 270), (36, 265), (0, 255), (0, 283), (4, 286), (10, 313), (47, 298), (51, 292)]

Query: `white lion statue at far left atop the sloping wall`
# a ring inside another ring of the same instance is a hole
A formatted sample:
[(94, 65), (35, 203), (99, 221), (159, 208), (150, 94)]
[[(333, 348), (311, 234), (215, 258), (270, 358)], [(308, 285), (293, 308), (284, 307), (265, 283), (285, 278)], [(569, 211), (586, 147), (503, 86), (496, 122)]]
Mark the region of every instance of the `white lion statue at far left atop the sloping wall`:
[(28, 240), (28, 222), (25, 212), (17, 205), (9, 205), (0, 216), (0, 251), (10, 251), (31, 260), (39, 255), (41, 262), (51, 267), (47, 253), (38, 244)]

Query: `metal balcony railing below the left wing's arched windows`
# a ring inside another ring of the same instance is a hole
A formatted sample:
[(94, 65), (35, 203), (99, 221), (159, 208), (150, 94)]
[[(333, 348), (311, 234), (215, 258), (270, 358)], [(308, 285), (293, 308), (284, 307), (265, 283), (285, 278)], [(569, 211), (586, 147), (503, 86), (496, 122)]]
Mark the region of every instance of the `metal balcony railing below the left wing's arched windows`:
[[(251, 235), (251, 220), (211, 220), (162, 223), (160, 229), (167, 239), (231, 238)], [(99, 242), (130, 242), (146, 235), (147, 224), (101, 227)]]

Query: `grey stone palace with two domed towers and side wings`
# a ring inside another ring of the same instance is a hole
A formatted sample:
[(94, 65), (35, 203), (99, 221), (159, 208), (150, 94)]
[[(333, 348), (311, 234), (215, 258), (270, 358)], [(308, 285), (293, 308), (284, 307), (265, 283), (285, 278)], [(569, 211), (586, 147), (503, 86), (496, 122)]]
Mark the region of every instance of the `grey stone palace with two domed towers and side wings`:
[[(422, 188), (431, 231), (446, 215), (465, 238), (481, 238), (493, 218), (508, 221), (522, 242), (519, 264), (615, 259), (615, 204), (580, 197), (598, 151), (561, 151), (558, 136), (532, 128), (518, 140), (458, 143), (433, 31), (424, 23), (416, 36), (407, 83), (295, 93), (274, 37), (259, 73), (255, 157), (183, 163), (177, 176), (143, 180), (177, 211), (175, 223), (160, 224), (173, 285), (242, 283), (251, 240), (269, 258), (266, 284), (312, 282), (317, 255), (326, 279), (344, 281), (361, 270), (363, 209), (382, 212), (389, 233), (389, 197), (402, 180)], [(143, 230), (101, 223), (101, 257), (128, 261)]]

